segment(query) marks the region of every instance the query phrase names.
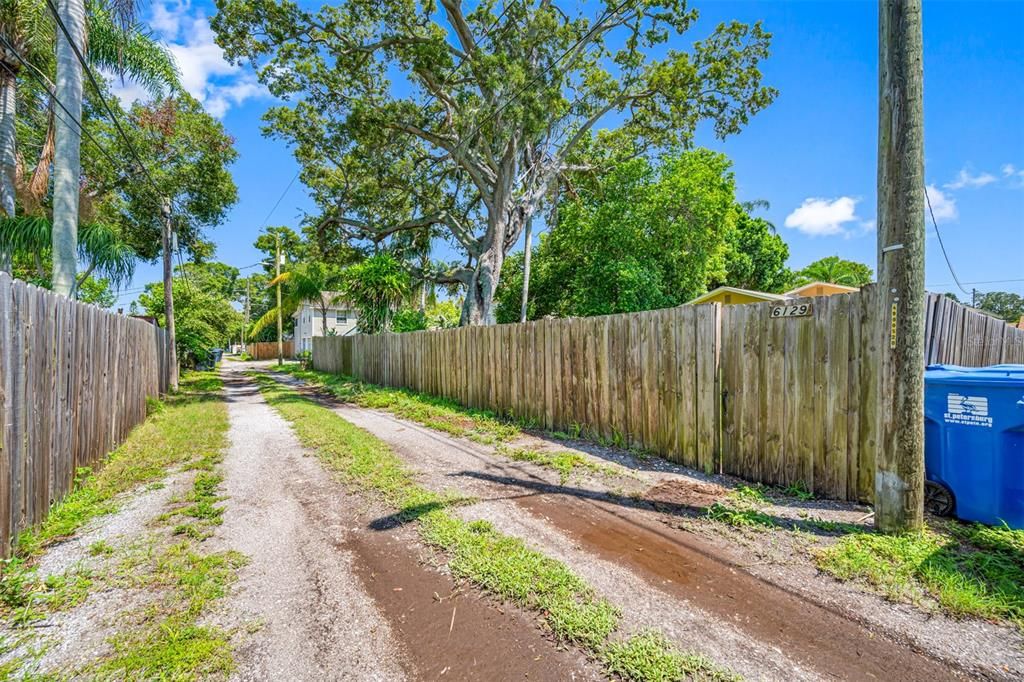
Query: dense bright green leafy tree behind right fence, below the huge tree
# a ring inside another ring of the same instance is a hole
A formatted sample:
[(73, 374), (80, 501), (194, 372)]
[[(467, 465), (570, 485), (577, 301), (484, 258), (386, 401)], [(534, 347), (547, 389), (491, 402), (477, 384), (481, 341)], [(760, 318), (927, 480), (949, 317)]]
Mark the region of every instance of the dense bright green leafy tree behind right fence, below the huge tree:
[[(727, 275), (726, 239), (740, 207), (729, 161), (696, 150), (638, 158), (581, 183), (542, 235), (529, 318), (631, 312), (685, 303)], [(517, 322), (522, 256), (506, 262), (500, 322)]]

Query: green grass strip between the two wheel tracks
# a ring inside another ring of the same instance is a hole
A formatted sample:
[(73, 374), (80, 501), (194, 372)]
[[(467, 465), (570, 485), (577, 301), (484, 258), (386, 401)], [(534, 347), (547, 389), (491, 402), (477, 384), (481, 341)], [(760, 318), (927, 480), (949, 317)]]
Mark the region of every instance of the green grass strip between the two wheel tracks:
[(258, 373), (251, 376), (299, 440), (342, 481), (379, 496), (397, 519), (417, 521), (424, 542), (449, 556), (454, 576), (541, 612), (557, 639), (581, 646), (609, 674), (633, 682), (736, 679), (701, 656), (676, 651), (656, 634), (616, 641), (617, 609), (565, 564), (486, 521), (450, 514), (446, 508), (462, 498), (419, 485), (384, 441), (293, 388)]

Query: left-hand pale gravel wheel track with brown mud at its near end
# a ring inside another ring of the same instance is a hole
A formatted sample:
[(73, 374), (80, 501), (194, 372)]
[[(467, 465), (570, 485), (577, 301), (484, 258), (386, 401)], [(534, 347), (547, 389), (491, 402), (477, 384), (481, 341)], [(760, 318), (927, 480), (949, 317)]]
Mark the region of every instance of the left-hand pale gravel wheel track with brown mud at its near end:
[(371, 528), (380, 514), (305, 453), (244, 369), (224, 377), (230, 501), (217, 534), (251, 558), (219, 617), (262, 625), (237, 652), (239, 679), (599, 678), (526, 614), (457, 592), (412, 528)]

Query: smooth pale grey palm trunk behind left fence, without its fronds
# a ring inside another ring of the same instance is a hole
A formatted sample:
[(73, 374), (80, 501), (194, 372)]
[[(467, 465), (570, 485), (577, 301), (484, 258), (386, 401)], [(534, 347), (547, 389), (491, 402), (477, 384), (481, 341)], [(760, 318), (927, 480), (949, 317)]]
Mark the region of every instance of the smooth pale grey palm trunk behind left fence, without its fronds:
[[(56, 0), (57, 14), (75, 47), (85, 53), (85, 3)], [(56, 98), (68, 108), (57, 117), (56, 156), (53, 160), (53, 291), (75, 294), (75, 266), (78, 251), (78, 201), (82, 174), (82, 65), (63, 31), (57, 28)], [(69, 120), (70, 119), (70, 120)]]

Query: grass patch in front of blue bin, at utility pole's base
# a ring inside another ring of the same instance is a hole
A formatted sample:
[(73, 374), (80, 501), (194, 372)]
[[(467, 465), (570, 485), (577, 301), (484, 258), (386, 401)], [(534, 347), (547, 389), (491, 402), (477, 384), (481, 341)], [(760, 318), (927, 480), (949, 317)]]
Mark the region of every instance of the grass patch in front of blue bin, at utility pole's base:
[(942, 522), (919, 532), (853, 532), (815, 553), (818, 567), (893, 601), (1024, 630), (1024, 530)]

